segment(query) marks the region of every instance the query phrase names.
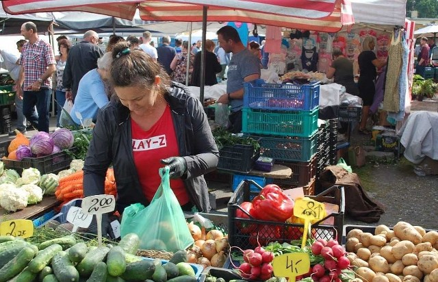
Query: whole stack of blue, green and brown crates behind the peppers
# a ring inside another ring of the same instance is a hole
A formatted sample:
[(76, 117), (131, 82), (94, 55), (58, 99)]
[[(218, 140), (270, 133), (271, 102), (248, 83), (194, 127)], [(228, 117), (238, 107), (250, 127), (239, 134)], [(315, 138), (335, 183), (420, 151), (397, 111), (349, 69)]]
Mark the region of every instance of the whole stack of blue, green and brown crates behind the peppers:
[(318, 152), (320, 84), (245, 84), (242, 132), (259, 138), (260, 155), (292, 169), (289, 179), (274, 180), (284, 188), (308, 186), (313, 194)]

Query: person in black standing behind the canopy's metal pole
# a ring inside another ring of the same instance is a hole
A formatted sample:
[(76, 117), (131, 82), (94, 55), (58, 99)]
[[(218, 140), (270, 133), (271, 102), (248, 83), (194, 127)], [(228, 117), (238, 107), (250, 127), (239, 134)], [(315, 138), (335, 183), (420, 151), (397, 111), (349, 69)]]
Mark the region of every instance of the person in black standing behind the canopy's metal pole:
[[(222, 71), (222, 66), (218, 61), (218, 57), (213, 53), (214, 47), (213, 40), (207, 39), (205, 40), (205, 49), (207, 52), (205, 54), (205, 79), (204, 85), (211, 86), (218, 84), (218, 79), (216, 78), (216, 73), (220, 73)], [(201, 55), (202, 52), (196, 53), (194, 56), (193, 63), (193, 73), (192, 73), (192, 86), (201, 86)]]

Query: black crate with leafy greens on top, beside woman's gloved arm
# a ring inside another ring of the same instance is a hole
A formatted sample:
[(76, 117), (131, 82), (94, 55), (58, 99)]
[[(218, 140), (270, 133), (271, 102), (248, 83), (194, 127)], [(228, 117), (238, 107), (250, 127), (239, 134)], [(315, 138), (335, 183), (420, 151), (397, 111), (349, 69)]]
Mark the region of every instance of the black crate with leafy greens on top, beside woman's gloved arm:
[(259, 158), (260, 149), (253, 145), (223, 146), (219, 151), (218, 169), (233, 172), (250, 172)]

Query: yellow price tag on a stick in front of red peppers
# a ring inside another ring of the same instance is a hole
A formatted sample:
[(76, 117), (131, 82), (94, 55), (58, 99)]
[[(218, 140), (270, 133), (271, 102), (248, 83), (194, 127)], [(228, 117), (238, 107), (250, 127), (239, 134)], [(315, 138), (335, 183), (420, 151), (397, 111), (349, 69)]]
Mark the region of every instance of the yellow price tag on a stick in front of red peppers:
[(324, 210), (325, 208), (323, 203), (313, 201), (311, 198), (296, 199), (294, 205), (294, 216), (297, 218), (303, 218), (305, 220), (301, 248), (305, 247), (311, 220), (320, 220), (324, 218)]

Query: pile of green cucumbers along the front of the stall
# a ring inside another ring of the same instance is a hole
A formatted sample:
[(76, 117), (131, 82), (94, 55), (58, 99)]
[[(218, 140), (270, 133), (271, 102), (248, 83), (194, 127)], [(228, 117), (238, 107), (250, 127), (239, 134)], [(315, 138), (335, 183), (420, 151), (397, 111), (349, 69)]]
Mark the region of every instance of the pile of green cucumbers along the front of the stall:
[(117, 246), (88, 246), (73, 235), (38, 246), (13, 236), (0, 236), (0, 282), (196, 282), (185, 251), (163, 264), (135, 254), (140, 240), (127, 234)]

